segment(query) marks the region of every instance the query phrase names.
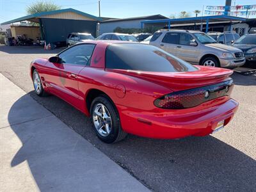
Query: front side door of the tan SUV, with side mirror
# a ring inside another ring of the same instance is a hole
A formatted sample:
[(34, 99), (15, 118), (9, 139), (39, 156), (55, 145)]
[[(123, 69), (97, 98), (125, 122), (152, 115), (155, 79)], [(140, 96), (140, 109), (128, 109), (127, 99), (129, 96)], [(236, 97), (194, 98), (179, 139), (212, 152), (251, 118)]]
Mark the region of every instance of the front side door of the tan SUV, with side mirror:
[(192, 35), (180, 33), (179, 45), (177, 45), (176, 56), (184, 61), (197, 63), (200, 49)]

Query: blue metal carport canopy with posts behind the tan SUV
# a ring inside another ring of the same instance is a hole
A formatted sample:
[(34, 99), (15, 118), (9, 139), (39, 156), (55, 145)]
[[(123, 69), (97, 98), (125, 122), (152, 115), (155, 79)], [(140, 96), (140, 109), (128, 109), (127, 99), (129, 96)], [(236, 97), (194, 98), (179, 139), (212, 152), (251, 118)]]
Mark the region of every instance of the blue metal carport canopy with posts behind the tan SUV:
[(202, 16), (202, 17), (188, 17), (179, 19), (158, 19), (158, 20), (143, 20), (141, 21), (141, 29), (144, 24), (147, 23), (166, 23), (168, 24), (168, 29), (171, 28), (171, 24), (192, 24), (192, 23), (206, 23), (205, 32), (208, 32), (209, 22), (235, 22), (235, 21), (245, 21), (243, 17), (233, 17), (228, 15), (212, 15), (212, 16)]

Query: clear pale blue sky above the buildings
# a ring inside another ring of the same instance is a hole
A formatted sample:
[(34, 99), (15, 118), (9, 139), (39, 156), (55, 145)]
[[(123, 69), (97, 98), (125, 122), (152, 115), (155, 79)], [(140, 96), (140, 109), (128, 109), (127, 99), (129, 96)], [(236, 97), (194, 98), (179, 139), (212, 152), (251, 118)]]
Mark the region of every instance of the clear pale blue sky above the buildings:
[[(34, 0), (35, 1), (35, 0)], [(98, 16), (97, 0), (52, 0), (62, 8), (74, 8)], [(0, 0), (0, 23), (26, 15), (33, 0)], [(101, 0), (102, 17), (137, 17), (161, 14), (170, 17), (181, 11), (202, 10), (205, 5), (224, 5), (225, 0)], [(234, 4), (234, 0), (232, 5)], [(236, 0), (236, 4), (256, 4), (255, 0)]]

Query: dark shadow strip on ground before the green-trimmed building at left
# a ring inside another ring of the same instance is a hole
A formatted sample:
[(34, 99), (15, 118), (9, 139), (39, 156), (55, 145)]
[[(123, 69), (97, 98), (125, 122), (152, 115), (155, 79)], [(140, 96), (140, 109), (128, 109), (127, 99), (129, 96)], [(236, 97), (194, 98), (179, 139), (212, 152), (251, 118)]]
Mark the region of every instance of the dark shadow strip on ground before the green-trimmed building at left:
[(52, 50), (44, 50), (44, 47), (40, 46), (6, 46), (0, 45), (0, 52), (6, 52), (8, 54), (57, 54), (61, 52), (63, 48), (56, 48)]

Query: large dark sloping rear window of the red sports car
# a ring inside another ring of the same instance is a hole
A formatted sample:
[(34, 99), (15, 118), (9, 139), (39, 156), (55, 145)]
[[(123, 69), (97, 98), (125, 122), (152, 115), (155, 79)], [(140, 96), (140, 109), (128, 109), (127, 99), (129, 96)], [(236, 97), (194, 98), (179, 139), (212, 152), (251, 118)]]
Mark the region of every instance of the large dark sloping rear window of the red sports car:
[(113, 44), (106, 51), (106, 68), (148, 72), (188, 72), (197, 70), (168, 52), (152, 45)]

